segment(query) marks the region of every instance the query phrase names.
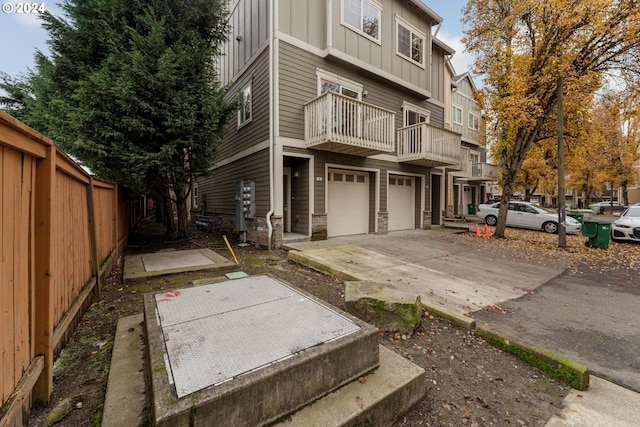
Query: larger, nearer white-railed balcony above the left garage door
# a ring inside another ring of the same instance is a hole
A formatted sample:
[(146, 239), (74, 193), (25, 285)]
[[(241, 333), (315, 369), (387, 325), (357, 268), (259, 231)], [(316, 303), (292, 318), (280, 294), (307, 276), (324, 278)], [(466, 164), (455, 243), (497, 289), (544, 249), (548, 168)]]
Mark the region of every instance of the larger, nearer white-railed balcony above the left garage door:
[(327, 92), (304, 106), (305, 146), (356, 156), (395, 150), (395, 113)]

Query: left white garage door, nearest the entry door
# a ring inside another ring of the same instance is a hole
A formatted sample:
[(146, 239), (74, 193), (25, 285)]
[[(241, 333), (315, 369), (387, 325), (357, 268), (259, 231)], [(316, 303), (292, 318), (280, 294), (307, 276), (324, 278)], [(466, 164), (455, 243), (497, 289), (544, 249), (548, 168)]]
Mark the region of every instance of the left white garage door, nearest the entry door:
[(366, 173), (329, 170), (327, 235), (369, 232), (369, 177)]

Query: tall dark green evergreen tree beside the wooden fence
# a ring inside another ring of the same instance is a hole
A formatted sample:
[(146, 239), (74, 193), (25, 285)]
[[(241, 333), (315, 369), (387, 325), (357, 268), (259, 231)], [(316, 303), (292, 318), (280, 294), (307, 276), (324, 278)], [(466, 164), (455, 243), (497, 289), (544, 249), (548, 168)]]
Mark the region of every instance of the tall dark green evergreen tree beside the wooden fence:
[(5, 75), (0, 101), (100, 177), (175, 197), (186, 236), (191, 180), (207, 173), (236, 108), (215, 74), (225, 5), (67, 0), (65, 18), (43, 15), (51, 58), (37, 52), (35, 72)]

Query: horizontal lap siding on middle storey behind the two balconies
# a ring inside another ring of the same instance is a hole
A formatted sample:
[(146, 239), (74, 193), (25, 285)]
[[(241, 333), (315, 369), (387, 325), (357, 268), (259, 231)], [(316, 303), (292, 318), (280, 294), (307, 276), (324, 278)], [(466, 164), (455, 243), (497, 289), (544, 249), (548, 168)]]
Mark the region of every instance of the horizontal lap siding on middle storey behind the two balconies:
[(316, 70), (322, 69), (363, 85), (367, 95), (363, 101), (396, 113), (395, 126), (403, 126), (402, 103), (410, 102), (431, 112), (431, 124), (444, 126), (444, 108), (423, 100), (401, 87), (364, 70), (346, 68), (297, 48), (280, 43), (280, 135), (287, 138), (304, 139), (304, 104), (318, 96)]

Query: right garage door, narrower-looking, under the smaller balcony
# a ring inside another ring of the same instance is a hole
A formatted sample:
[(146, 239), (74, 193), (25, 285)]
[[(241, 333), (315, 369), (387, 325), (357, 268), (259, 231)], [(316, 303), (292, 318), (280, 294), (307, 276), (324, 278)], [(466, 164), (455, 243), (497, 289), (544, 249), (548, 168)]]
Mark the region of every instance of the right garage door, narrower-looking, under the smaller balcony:
[(389, 231), (415, 228), (415, 178), (389, 175), (387, 194)]

